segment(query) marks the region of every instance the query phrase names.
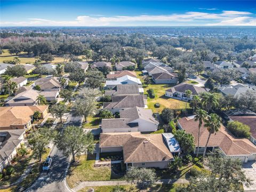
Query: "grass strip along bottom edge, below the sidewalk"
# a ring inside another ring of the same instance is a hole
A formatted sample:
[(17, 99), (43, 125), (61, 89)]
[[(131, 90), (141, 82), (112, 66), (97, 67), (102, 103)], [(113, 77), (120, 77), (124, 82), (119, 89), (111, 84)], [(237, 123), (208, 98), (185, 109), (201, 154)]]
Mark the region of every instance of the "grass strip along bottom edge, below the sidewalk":
[[(180, 186), (179, 184), (170, 184), (170, 185), (152, 185), (146, 189), (139, 189), (135, 185), (119, 186), (121, 189), (124, 189), (127, 192), (137, 192), (137, 191), (163, 191), (163, 192), (174, 192), (175, 189)], [(116, 186), (98, 186), (98, 187), (85, 187), (79, 192), (87, 192), (90, 188), (93, 188), (95, 192), (111, 192), (115, 189)]]

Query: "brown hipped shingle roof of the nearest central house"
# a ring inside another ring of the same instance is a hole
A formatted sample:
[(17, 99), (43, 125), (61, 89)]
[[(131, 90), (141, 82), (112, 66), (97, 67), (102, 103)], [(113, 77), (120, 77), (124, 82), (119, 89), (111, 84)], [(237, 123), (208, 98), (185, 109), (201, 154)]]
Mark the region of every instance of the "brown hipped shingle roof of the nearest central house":
[(162, 134), (101, 133), (100, 147), (123, 147), (124, 163), (171, 161), (173, 155)]

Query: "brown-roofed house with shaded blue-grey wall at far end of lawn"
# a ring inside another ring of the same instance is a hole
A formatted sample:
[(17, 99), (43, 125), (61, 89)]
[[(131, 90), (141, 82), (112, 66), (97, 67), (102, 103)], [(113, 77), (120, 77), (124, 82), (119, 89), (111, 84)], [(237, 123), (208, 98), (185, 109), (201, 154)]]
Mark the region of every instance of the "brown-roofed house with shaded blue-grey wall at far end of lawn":
[(178, 75), (174, 73), (157, 73), (152, 75), (152, 80), (155, 84), (177, 84)]

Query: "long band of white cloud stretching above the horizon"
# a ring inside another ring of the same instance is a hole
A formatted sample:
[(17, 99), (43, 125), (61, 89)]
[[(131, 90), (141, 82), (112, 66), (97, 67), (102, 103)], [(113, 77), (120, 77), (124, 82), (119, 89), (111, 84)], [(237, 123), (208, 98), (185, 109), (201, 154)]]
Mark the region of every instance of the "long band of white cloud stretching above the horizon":
[(256, 26), (255, 15), (244, 11), (222, 11), (221, 13), (186, 12), (170, 15), (81, 15), (73, 21), (55, 21), (30, 18), (28, 21), (2, 21), (2, 26), (150, 26), (150, 25), (206, 25), (206, 26)]

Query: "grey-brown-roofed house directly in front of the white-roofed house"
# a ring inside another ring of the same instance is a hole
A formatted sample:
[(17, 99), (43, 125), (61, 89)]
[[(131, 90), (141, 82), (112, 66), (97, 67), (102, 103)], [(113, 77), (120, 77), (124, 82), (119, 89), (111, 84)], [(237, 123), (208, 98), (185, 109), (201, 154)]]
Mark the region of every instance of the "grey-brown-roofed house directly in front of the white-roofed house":
[(144, 89), (141, 85), (116, 85), (113, 90), (106, 90), (105, 95), (136, 95), (144, 94)]

